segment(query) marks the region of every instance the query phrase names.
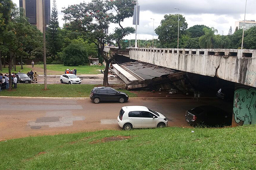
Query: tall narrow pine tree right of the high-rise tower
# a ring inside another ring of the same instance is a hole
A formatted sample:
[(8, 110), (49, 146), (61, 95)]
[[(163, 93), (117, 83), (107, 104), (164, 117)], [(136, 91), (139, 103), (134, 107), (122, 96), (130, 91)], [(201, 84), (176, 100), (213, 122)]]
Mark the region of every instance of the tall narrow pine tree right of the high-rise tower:
[(55, 60), (57, 52), (60, 52), (62, 48), (56, 0), (53, 0), (51, 20), (47, 29), (47, 45), (53, 60)]

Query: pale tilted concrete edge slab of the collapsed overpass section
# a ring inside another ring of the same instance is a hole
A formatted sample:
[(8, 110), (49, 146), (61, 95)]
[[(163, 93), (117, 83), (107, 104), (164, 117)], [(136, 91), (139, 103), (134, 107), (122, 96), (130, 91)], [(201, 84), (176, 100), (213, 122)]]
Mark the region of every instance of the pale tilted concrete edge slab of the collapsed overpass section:
[(118, 64), (113, 64), (114, 71), (120, 79), (122, 79), (126, 84), (139, 84), (139, 80), (136, 79), (133, 75), (125, 71)]

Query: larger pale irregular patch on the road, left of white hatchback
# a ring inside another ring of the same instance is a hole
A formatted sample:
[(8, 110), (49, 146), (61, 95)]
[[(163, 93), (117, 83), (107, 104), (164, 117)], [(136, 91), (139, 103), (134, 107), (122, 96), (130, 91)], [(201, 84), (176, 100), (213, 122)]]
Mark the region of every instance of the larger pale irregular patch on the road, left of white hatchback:
[(45, 117), (28, 122), (31, 129), (40, 129), (42, 126), (49, 128), (72, 126), (74, 121), (85, 120), (84, 116), (73, 116), (70, 111), (47, 112)]

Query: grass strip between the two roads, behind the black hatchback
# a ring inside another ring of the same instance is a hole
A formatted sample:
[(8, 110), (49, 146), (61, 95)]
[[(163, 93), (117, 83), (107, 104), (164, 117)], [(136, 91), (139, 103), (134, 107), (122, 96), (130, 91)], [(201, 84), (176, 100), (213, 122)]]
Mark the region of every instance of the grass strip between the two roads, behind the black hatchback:
[[(17, 84), (17, 89), (12, 91), (3, 90), (0, 96), (17, 96), (17, 97), (89, 97), (91, 89), (102, 85), (89, 84), (49, 84), (44, 90), (43, 84)], [(136, 97), (136, 94), (131, 93), (125, 89), (118, 89), (129, 95), (129, 97)]]

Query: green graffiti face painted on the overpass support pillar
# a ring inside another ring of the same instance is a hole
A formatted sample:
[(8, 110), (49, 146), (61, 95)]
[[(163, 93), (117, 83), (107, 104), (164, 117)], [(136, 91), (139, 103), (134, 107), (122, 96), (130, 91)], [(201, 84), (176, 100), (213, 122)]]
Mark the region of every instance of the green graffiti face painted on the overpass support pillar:
[(256, 89), (235, 91), (233, 116), (239, 125), (256, 124)]

